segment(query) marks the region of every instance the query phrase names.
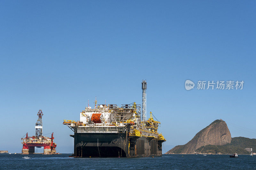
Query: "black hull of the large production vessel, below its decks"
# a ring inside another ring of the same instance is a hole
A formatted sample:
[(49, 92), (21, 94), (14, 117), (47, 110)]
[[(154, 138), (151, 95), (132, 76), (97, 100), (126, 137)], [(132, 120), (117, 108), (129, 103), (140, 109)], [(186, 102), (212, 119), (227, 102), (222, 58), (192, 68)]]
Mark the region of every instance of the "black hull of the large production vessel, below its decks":
[(153, 137), (127, 133), (75, 133), (74, 157), (162, 156), (162, 142)]

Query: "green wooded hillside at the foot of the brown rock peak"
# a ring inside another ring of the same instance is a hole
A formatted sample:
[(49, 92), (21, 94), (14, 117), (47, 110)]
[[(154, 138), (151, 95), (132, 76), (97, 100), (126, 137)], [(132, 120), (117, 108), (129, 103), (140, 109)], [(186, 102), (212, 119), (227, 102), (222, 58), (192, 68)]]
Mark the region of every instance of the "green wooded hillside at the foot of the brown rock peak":
[(225, 145), (206, 145), (196, 149), (196, 152), (201, 153), (221, 153), (221, 154), (250, 154), (244, 148), (252, 148), (256, 151), (256, 139), (246, 137), (232, 137), (230, 144)]

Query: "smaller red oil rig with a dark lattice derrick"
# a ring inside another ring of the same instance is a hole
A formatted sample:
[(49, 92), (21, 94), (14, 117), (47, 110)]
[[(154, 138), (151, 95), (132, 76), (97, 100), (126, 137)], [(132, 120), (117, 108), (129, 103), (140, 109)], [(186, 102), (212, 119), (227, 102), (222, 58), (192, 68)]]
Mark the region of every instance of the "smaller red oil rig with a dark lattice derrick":
[(38, 119), (36, 122), (36, 136), (28, 137), (28, 133), (26, 134), (25, 138), (21, 138), (23, 148), (22, 148), (22, 154), (34, 154), (35, 153), (35, 147), (41, 148), (44, 147), (44, 154), (55, 154), (56, 153), (56, 144), (53, 142), (53, 133), (52, 137), (44, 137), (43, 134), (43, 122), (42, 122), (42, 116), (44, 115), (42, 110), (39, 110), (38, 113)]

